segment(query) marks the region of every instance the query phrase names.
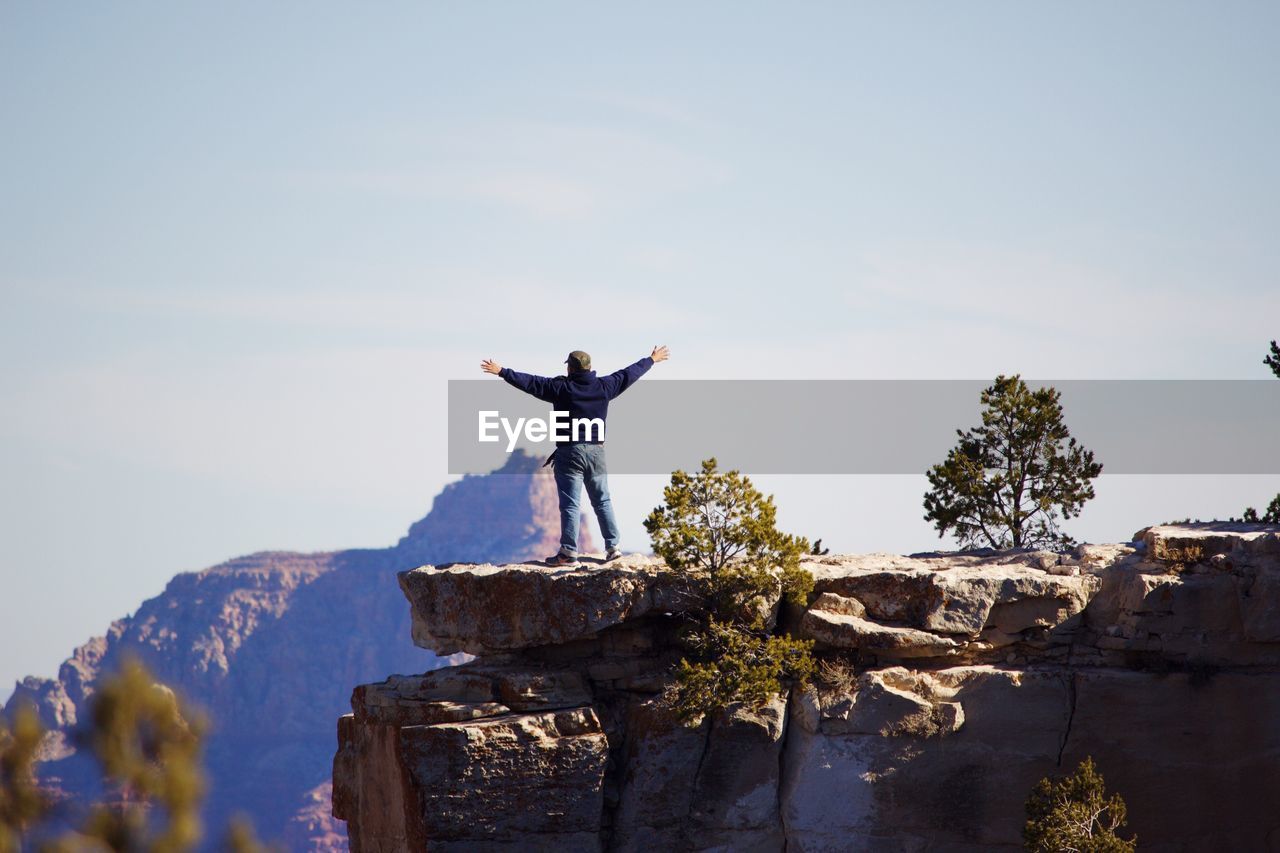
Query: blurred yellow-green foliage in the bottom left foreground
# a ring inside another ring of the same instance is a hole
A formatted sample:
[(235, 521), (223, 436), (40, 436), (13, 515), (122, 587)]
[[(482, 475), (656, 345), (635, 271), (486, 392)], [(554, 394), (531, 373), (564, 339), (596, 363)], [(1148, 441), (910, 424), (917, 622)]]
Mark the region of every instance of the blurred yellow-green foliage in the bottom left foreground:
[[(204, 721), (173, 690), (140, 662), (125, 660), (115, 675), (96, 684), (90, 725), (78, 735), (101, 767), (106, 798), (88, 807), (76, 831), (41, 849), (193, 849), (202, 838), (204, 731)], [(20, 849), (22, 834), (49, 816), (33, 781), (42, 736), (35, 713), (26, 710), (15, 716), (12, 731), (0, 726), (0, 853)], [(246, 825), (232, 827), (228, 844), (241, 853), (264, 849)]]

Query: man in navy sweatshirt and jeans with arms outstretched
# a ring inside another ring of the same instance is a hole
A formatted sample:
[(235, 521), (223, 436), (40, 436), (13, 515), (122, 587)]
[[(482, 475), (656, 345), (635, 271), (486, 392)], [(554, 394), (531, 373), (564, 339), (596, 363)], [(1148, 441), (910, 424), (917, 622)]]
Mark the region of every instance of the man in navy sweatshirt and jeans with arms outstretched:
[(558, 441), (552, 459), (556, 465), (556, 491), (561, 507), (561, 547), (547, 562), (552, 566), (572, 566), (577, 564), (577, 519), (579, 494), (586, 483), (586, 494), (591, 498), (595, 519), (600, 523), (604, 535), (604, 560), (622, 556), (618, 549), (618, 523), (613, 517), (613, 502), (609, 500), (608, 474), (604, 470), (604, 421), (609, 414), (609, 401), (631, 387), (649, 368), (668, 359), (667, 347), (654, 347), (653, 352), (640, 359), (630, 368), (623, 368), (607, 377), (596, 377), (591, 370), (591, 356), (581, 350), (573, 350), (564, 359), (568, 365), (563, 377), (535, 377), (503, 368), (493, 359), (480, 362), (480, 369), (502, 377), (509, 384), (544, 402), (552, 403), (553, 411), (567, 411), (570, 424), (585, 424), (598, 419), (599, 426), (589, 426), (576, 434), (571, 429), (567, 441)]

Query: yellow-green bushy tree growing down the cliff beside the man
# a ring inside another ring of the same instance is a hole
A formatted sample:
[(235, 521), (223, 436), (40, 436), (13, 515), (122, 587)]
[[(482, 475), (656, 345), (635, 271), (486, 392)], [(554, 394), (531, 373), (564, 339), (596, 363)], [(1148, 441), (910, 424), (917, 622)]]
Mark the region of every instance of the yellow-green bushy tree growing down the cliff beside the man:
[(739, 471), (719, 471), (714, 459), (694, 475), (675, 471), (663, 501), (645, 519), (654, 553), (705, 602), (676, 669), (677, 715), (691, 721), (733, 702), (759, 707), (782, 679), (806, 681), (813, 643), (773, 637), (769, 616), (780, 597), (808, 605), (813, 575), (800, 567), (808, 539), (778, 532), (773, 497)]

